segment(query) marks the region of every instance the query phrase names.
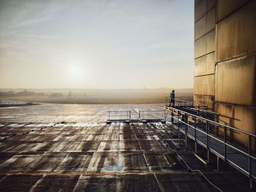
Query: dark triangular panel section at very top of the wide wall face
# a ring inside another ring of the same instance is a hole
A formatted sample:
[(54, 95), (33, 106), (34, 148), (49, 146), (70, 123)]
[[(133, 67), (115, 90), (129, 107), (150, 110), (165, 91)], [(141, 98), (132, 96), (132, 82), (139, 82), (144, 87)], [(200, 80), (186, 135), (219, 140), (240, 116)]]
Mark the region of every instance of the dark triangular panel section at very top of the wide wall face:
[(241, 7), (243, 4), (249, 0), (217, 0), (218, 6), (218, 21), (225, 18), (227, 15), (230, 15), (236, 9)]

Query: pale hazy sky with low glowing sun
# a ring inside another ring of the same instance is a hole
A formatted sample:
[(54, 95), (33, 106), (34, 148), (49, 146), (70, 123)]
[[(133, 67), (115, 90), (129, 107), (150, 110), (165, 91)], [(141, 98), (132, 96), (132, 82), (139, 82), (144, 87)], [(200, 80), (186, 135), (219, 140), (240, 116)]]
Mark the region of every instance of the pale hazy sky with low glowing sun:
[(192, 88), (191, 0), (0, 0), (0, 88)]

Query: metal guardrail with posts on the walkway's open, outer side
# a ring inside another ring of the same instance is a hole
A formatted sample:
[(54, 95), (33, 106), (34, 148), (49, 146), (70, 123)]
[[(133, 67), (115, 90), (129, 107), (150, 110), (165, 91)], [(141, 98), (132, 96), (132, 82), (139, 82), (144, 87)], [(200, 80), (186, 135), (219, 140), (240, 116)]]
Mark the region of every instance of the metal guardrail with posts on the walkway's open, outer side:
[[(253, 153), (252, 154), (252, 143), (255, 143), (256, 141), (256, 135), (255, 134), (251, 134), (249, 132), (240, 130), (238, 128), (233, 128), (231, 126), (227, 126), (221, 123), (217, 123), (214, 120), (209, 120), (208, 118), (203, 118), (200, 117), (198, 115), (186, 112), (184, 110), (180, 110), (177, 109), (176, 106), (166, 106), (165, 110), (172, 112), (172, 122), (174, 119), (177, 120), (177, 128), (178, 128), (178, 135), (179, 132), (184, 132), (186, 140), (187, 137), (190, 137), (191, 139), (193, 139), (195, 141), (195, 152), (197, 152), (197, 143), (199, 143), (200, 145), (202, 145), (203, 147), (206, 147), (207, 151), (208, 151), (208, 161), (209, 161), (209, 153), (210, 151), (214, 154), (217, 155), (218, 159), (222, 158), (224, 161), (226, 161), (228, 164), (234, 166), (236, 169), (240, 170), (241, 172), (243, 172), (244, 174), (246, 174), (247, 177), (249, 177), (250, 179), (250, 186), (252, 187), (252, 179), (256, 180), (256, 173), (255, 175), (252, 174), (252, 160), (255, 161), (256, 160), (256, 154)], [(177, 118), (173, 115), (173, 111), (176, 111)], [(193, 120), (193, 122), (192, 122)], [(192, 123), (189, 123), (192, 122)], [(201, 125), (198, 127), (198, 125), (201, 123)], [(184, 125), (185, 128), (181, 128), (181, 125)], [(222, 129), (222, 137), (219, 137), (219, 135), (217, 135), (219, 133), (219, 129)], [(189, 130), (190, 129), (190, 130)], [(192, 129), (192, 130), (191, 130)], [(233, 132), (233, 133), (238, 133), (238, 134), (244, 134), (248, 139), (248, 146), (247, 149), (244, 149), (242, 147), (238, 147), (237, 145), (234, 145), (233, 143), (228, 141), (228, 134), (227, 131), (229, 132)], [(202, 141), (200, 141), (199, 137), (197, 137), (197, 134), (203, 134), (204, 137), (206, 137), (206, 143), (203, 143)], [(180, 138), (180, 137), (179, 137)], [(215, 141), (215, 143), (217, 143), (217, 145), (222, 146), (222, 151), (217, 151), (216, 148), (214, 149), (214, 147), (211, 147), (211, 139), (212, 142)], [(238, 164), (237, 162), (235, 162), (233, 159), (230, 159), (227, 155), (230, 155), (230, 153), (227, 153), (227, 147), (229, 147), (230, 149), (233, 149), (236, 151), (236, 153), (238, 153), (239, 155), (243, 156), (245, 155), (246, 158), (244, 159), (244, 161), (247, 161), (248, 163), (248, 167), (247, 169), (244, 169), (244, 167), (242, 167), (243, 165), (246, 166), (246, 163), (244, 162), (244, 164)], [(256, 147), (254, 146), (253, 150)]]

